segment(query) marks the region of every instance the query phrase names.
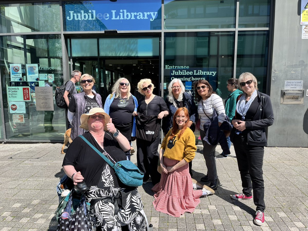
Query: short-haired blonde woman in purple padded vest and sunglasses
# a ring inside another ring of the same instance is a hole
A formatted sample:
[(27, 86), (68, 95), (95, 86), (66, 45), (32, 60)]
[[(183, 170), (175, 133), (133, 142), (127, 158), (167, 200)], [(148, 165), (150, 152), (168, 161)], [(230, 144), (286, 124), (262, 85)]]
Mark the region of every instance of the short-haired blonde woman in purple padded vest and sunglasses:
[(89, 113), (93, 107), (103, 108), (102, 97), (93, 91), (95, 80), (89, 74), (83, 74), (80, 78), (80, 84), (83, 91), (72, 96), (68, 105), (67, 119), (72, 125), (71, 139), (82, 135), (85, 130), (79, 128), (80, 116)]

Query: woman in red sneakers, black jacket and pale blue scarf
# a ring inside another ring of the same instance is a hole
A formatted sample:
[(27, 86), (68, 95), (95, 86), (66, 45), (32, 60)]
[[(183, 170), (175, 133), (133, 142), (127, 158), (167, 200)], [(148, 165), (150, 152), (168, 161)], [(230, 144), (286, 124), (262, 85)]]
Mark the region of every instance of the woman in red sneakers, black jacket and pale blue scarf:
[[(232, 195), (234, 200), (251, 200), (257, 206), (253, 223), (264, 223), (263, 155), (267, 145), (265, 128), (274, 122), (270, 96), (258, 91), (257, 79), (249, 72), (242, 73), (238, 87), (244, 93), (237, 100), (233, 129), (233, 142), (237, 165), (241, 174), (243, 192)], [(253, 189), (253, 195), (251, 190)]]

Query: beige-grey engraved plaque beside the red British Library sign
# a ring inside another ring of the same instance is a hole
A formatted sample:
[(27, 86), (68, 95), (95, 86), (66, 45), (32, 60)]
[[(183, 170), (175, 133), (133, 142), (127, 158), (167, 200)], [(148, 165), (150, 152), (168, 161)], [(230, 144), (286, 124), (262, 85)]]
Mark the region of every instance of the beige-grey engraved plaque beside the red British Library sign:
[(54, 96), (52, 87), (35, 87), (36, 111), (53, 111)]

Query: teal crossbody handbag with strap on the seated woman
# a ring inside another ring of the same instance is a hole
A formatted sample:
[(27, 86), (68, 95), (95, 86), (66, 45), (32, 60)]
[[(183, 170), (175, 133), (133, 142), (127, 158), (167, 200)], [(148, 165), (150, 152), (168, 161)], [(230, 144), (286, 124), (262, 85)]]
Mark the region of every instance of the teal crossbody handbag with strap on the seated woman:
[(111, 156), (104, 150), (104, 153), (115, 162), (114, 164), (106, 157), (104, 156), (97, 148), (95, 148), (86, 138), (84, 138), (82, 135), (81, 137), (95, 152), (99, 154), (106, 162), (109, 164), (114, 170), (115, 175), (120, 179), (120, 181), (123, 184), (126, 184), (128, 186), (132, 187), (138, 187), (142, 185), (143, 183), (143, 176), (144, 173), (139, 170), (139, 168), (130, 160), (121, 160), (118, 162), (115, 162)]

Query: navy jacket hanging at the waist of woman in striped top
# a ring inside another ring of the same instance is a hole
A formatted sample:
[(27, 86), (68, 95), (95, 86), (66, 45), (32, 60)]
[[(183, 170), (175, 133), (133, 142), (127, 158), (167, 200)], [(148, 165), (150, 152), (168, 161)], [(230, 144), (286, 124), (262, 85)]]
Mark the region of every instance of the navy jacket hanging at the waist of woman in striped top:
[(221, 149), (223, 150), (225, 155), (230, 154), (227, 138), (225, 136), (224, 131), (231, 131), (231, 124), (229, 117), (225, 117), (224, 122), (218, 126), (218, 116), (216, 110), (213, 112), (213, 117), (211, 120), (208, 120), (203, 125), (205, 136), (203, 140), (210, 144), (216, 145), (220, 144)]

